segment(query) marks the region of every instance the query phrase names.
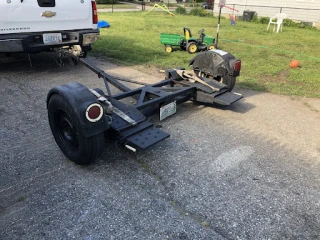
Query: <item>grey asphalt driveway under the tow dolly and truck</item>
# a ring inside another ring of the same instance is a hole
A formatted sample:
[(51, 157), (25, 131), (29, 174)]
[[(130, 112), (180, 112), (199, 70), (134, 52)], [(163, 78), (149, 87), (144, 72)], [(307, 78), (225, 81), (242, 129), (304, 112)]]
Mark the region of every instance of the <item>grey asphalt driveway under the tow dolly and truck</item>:
[[(89, 58), (111, 75), (147, 74)], [(230, 107), (187, 102), (160, 122), (171, 137), (133, 153), (107, 141), (89, 166), (70, 162), (50, 132), (46, 96), (82, 65), (52, 54), (0, 63), (0, 239), (320, 239), (318, 99), (236, 87)]]

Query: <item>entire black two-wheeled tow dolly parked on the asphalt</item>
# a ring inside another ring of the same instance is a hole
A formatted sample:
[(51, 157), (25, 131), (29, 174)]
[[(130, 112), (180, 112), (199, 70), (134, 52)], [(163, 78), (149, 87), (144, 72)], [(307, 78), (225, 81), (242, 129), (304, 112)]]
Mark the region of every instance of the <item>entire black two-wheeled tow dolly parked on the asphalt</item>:
[[(72, 82), (48, 93), (48, 118), (55, 141), (67, 158), (80, 165), (100, 156), (106, 137), (133, 152), (168, 138), (168, 133), (147, 121), (156, 113), (163, 120), (176, 112), (178, 104), (189, 100), (230, 105), (243, 97), (232, 92), (241, 61), (222, 50), (199, 53), (190, 61), (192, 70), (169, 69), (165, 79), (154, 84), (127, 80), (144, 85), (136, 89), (128, 88), (67, 49), (57, 52), (84, 64), (103, 79), (106, 87), (104, 93), (99, 88), (89, 89)], [(110, 84), (121, 93), (112, 94)], [(126, 103), (129, 98), (133, 104)]]

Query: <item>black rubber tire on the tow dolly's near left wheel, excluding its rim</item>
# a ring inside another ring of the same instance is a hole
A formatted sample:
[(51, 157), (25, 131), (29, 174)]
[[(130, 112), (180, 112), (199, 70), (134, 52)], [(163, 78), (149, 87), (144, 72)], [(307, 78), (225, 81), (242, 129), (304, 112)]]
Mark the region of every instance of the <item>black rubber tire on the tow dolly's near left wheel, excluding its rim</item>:
[[(60, 138), (54, 121), (54, 114), (57, 111), (65, 112), (76, 125), (78, 132), (79, 147), (76, 150), (70, 149)], [(59, 94), (53, 94), (48, 103), (48, 118), (52, 134), (57, 145), (64, 155), (78, 165), (87, 165), (94, 162), (104, 149), (105, 139), (104, 133), (99, 133), (92, 137), (84, 137), (81, 134), (78, 116), (75, 114), (71, 105)]]

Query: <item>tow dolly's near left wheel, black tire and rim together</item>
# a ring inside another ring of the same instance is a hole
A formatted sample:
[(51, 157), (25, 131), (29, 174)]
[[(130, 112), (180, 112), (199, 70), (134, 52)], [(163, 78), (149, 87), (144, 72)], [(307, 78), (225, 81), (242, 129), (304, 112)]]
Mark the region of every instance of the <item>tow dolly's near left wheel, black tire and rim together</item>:
[(71, 161), (79, 165), (89, 164), (102, 153), (104, 133), (84, 137), (75, 110), (61, 95), (50, 97), (48, 117), (56, 143)]

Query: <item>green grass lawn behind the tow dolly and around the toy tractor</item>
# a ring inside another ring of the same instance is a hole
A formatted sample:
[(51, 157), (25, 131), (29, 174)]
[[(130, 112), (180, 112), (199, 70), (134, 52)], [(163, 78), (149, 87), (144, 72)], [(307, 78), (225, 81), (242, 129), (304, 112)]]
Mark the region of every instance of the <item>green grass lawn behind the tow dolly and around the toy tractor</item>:
[[(193, 35), (204, 28), (216, 36), (217, 18), (170, 16), (164, 12), (99, 13), (111, 24), (101, 29), (93, 54), (105, 55), (125, 65), (155, 66), (159, 69), (188, 67), (194, 56), (178, 48), (166, 53), (161, 32), (183, 34), (188, 26)], [(266, 31), (267, 25), (239, 21), (232, 27), (221, 20), (219, 48), (242, 60), (237, 83), (259, 91), (285, 95), (320, 97), (319, 31), (284, 27), (283, 32)], [(301, 67), (290, 68), (297, 59)]]

